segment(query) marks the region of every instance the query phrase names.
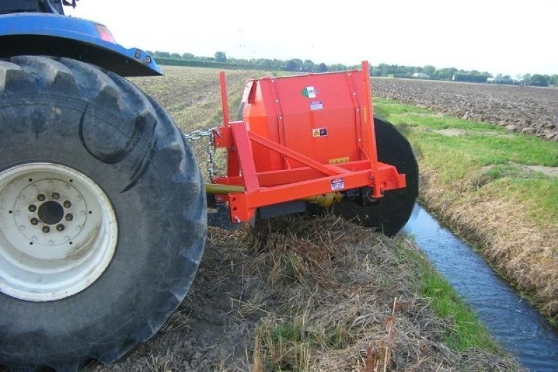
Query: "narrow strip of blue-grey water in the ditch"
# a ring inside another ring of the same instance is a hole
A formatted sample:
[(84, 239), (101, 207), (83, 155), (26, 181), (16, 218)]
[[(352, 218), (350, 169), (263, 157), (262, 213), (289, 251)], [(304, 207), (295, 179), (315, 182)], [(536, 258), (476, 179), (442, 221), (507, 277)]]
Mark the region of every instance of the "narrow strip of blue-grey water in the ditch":
[(404, 231), (506, 350), (531, 371), (558, 371), (558, 331), (467, 243), (419, 206)]

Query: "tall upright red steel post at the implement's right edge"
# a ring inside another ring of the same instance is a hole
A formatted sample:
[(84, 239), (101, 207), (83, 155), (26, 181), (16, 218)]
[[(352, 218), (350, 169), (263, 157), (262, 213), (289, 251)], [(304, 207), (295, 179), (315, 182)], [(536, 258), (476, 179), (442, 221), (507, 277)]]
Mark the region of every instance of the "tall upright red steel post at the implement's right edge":
[(376, 132), (374, 127), (374, 109), (372, 108), (372, 88), (370, 86), (370, 64), (368, 61), (362, 62), (362, 82), (364, 89), (364, 99), (363, 104), (363, 125), (370, 128), (370, 165), (372, 166), (372, 175), (374, 179), (372, 180), (373, 193), (372, 196), (375, 198), (382, 197), (382, 190), (380, 189), (378, 180), (378, 155), (376, 148)]

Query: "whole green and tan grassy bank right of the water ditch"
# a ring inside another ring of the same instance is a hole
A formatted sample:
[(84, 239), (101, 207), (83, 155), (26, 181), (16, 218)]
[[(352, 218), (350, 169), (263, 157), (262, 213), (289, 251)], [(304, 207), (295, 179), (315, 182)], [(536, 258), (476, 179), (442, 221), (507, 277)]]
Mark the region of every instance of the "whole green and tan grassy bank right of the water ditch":
[(425, 206), (556, 323), (558, 143), (381, 98), (375, 114), (414, 146)]

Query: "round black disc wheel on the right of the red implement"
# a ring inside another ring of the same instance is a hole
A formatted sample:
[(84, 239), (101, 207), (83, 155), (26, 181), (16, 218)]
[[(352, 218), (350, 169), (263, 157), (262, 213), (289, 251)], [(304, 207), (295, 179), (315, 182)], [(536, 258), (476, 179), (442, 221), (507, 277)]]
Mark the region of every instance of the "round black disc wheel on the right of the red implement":
[(346, 201), (333, 206), (336, 215), (387, 236), (396, 235), (409, 221), (418, 196), (418, 164), (409, 141), (391, 123), (374, 118), (378, 160), (405, 173), (407, 187), (385, 192), (376, 203)]

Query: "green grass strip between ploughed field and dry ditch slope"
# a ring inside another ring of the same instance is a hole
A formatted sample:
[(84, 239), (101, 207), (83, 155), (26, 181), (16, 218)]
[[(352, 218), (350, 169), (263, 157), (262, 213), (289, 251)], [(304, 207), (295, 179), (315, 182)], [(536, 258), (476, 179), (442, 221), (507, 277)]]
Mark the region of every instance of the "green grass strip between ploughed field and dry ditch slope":
[[(521, 165), (558, 166), (558, 143), (504, 127), (479, 123), (435, 111), (376, 98), (375, 114), (404, 132), (421, 166), (434, 169), (451, 193), (455, 185), (497, 189), (503, 200), (523, 203), (528, 218), (543, 226), (558, 226), (558, 179), (526, 172)], [(447, 135), (440, 130), (455, 130)], [(480, 182), (479, 182), (480, 181)]]

